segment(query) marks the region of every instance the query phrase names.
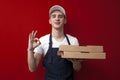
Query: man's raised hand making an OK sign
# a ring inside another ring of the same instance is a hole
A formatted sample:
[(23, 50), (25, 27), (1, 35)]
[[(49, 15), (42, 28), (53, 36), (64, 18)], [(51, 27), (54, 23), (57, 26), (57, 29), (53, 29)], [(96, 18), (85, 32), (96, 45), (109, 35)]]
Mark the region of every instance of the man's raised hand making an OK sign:
[(35, 37), (36, 33), (37, 31), (32, 31), (32, 33), (29, 34), (28, 51), (33, 51), (34, 48), (40, 45), (39, 39)]

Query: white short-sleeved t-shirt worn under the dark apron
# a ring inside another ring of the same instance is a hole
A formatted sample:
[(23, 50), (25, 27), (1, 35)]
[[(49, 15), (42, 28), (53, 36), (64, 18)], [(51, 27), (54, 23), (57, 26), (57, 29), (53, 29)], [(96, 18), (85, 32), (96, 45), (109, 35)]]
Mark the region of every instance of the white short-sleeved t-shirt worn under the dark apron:
[[(49, 48), (49, 37), (50, 37), (50, 34), (47, 34), (45, 36), (42, 36), (39, 39), (41, 44), (34, 49), (35, 53), (46, 55), (48, 48)], [(79, 42), (76, 37), (73, 37), (69, 34), (67, 34), (67, 37), (68, 37), (71, 45), (79, 45)], [(60, 45), (68, 45), (66, 37), (61, 42), (56, 41), (52, 37), (52, 48), (59, 48)]]

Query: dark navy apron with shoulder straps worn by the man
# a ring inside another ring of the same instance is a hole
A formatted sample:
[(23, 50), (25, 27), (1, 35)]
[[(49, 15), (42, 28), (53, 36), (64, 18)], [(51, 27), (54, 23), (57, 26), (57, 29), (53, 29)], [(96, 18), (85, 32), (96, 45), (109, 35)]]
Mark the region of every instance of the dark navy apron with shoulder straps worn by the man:
[[(65, 35), (68, 44), (70, 41)], [(43, 60), (46, 69), (45, 80), (73, 80), (72, 62), (57, 55), (58, 48), (52, 48), (52, 35), (49, 37), (49, 49)]]

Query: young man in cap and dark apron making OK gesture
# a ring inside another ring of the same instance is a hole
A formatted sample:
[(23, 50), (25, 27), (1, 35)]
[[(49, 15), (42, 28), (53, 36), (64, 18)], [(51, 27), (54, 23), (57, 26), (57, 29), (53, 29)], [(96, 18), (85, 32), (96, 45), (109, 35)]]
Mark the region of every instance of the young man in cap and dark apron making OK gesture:
[(41, 56), (44, 55), (43, 65), (46, 69), (45, 80), (73, 80), (73, 69), (79, 70), (79, 60), (68, 60), (57, 56), (60, 45), (79, 45), (77, 38), (64, 33), (66, 13), (63, 7), (54, 5), (49, 10), (51, 34), (35, 38), (37, 31), (29, 34), (28, 66), (31, 72), (38, 67)]

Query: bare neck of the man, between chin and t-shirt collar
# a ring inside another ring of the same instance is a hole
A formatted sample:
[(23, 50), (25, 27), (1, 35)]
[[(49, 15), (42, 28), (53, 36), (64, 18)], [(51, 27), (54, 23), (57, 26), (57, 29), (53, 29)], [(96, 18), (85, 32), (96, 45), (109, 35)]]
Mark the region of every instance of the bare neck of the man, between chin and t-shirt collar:
[(52, 29), (52, 36), (57, 40), (57, 41), (62, 41), (65, 38), (64, 31), (63, 29)]

